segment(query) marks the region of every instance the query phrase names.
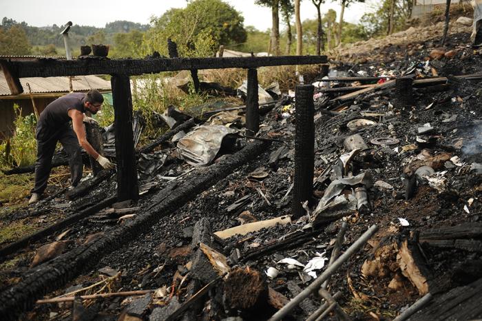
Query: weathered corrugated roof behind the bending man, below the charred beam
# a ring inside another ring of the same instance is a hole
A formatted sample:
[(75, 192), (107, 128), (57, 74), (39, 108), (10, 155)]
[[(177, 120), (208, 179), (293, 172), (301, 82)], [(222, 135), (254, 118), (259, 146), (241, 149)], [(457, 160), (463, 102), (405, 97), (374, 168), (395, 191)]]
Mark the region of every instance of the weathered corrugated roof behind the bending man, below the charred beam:
[[(69, 92), (69, 77), (30, 77), (21, 78), (20, 83), (23, 87), (23, 92), (28, 94), (28, 85), (32, 94), (45, 94), (49, 92)], [(28, 85), (27, 85), (28, 84)], [(109, 91), (111, 90), (110, 81), (105, 81), (98, 76), (74, 76), (72, 77), (72, 87), (74, 92), (86, 92), (91, 89)], [(0, 96), (10, 96), (10, 88), (3, 72), (0, 71)]]

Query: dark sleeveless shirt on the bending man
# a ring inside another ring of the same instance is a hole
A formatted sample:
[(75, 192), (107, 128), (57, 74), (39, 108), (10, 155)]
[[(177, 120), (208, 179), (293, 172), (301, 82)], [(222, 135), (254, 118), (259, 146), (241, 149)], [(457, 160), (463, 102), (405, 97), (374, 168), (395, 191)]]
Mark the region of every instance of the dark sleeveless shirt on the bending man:
[(45, 110), (40, 113), (36, 127), (37, 139), (43, 140), (68, 126), (68, 123), (71, 121), (70, 116), (67, 114), (69, 110), (74, 109), (79, 112), (85, 112), (84, 97), (85, 94), (74, 92), (66, 94), (48, 104)]

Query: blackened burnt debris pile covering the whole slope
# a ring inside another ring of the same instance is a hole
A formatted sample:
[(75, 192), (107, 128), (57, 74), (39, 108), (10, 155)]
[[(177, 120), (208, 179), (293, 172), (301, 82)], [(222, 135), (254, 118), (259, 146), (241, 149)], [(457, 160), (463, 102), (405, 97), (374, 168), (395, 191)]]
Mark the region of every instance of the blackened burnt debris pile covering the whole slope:
[(414, 48), (331, 61), (290, 94), (254, 66), (246, 106), (156, 115), (169, 130), (136, 146), (137, 201), (101, 171), (15, 214), (65, 217), (0, 249), (0, 313), (482, 318), (482, 56)]

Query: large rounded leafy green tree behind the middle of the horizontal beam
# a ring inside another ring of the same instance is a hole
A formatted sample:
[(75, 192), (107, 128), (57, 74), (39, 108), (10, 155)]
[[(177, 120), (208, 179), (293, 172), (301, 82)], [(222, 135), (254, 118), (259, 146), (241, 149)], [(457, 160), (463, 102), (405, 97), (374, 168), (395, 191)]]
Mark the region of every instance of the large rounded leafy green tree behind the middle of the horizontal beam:
[(190, 1), (184, 9), (171, 9), (154, 17), (145, 34), (148, 50), (167, 56), (167, 39), (178, 45), (180, 56), (211, 56), (219, 45), (244, 43), (244, 18), (221, 0)]

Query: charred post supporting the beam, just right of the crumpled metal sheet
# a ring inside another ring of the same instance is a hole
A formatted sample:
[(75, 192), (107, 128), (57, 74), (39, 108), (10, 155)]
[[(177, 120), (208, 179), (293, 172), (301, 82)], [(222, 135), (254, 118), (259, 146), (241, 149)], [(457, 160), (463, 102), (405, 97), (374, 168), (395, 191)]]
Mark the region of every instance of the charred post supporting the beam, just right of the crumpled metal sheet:
[(260, 130), (260, 105), (258, 104), (258, 70), (248, 69), (246, 97), (246, 130), (248, 136), (255, 136)]

